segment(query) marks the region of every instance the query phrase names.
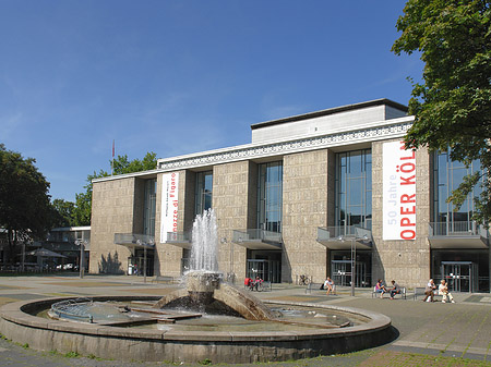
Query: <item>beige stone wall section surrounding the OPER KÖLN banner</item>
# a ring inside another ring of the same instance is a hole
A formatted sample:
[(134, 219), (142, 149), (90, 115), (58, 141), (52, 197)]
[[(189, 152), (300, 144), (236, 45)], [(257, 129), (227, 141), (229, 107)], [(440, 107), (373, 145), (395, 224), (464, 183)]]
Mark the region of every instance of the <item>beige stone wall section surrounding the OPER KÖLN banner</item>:
[(430, 245), (427, 240), (431, 205), (430, 155), (427, 149), (416, 152), (416, 240), (383, 241), (383, 143), (372, 144), (372, 283), (381, 278), (387, 283), (395, 279), (404, 286), (423, 286), (430, 278)]

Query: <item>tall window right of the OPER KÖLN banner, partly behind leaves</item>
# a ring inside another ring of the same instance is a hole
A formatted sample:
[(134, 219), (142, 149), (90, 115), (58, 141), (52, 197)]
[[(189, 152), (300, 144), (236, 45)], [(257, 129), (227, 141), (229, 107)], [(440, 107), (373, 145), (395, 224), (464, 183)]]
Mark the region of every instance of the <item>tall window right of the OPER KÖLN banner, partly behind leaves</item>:
[(480, 170), (479, 161), (474, 161), (468, 168), (457, 161), (452, 161), (450, 151), (434, 155), (434, 221), (457, 223), (463, 228), (470, 223), (474, 213), (474, 197), (482, 192), (480, 185), (474, 187), (460, 209), (454, 211), (455, 207), (446, 199), (452, 195), (452, 191), (458, 187), (464, 176)]

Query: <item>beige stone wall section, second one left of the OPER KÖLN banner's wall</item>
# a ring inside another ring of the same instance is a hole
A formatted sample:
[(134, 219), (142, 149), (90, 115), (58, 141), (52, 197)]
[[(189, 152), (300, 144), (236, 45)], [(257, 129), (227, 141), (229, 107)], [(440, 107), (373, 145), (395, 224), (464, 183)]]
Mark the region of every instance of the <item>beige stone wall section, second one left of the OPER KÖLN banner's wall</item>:
[[(327, 250), (316, 242), (318, 228), (327, 225), (327, 149), (284, 157), (282, 281), (300, 274), (321, 282), (326, 276)], [(334, 205), (333, 205), (334, 207)], [(332, 209), (334, 212), (334, 209)]]

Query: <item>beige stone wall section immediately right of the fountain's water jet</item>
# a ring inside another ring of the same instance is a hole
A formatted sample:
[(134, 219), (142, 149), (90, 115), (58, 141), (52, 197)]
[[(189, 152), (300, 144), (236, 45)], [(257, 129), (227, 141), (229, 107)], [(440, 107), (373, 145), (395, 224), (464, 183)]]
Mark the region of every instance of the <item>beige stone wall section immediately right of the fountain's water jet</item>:
[[(249, 161), (215, 166), (213, 169), (213, 208), (218, 220), (219, 243), (218, 267), (224, 272), (230, 269), (239, 281), (246, 278), (246, 247), (231, 243), (233, 230), (246, 230), (249, 216), (254, 216), (249, 191), (251, 170)], [(233, 257), (231, 258), (231, 255)]]

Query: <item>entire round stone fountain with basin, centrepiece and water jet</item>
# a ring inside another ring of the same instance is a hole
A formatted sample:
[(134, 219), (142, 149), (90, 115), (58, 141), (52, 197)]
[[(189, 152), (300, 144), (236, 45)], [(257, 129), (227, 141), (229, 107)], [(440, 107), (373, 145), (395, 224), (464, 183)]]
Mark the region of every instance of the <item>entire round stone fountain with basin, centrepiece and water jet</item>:
[[(0, 332), (40, 351), (173, 363), (298, 359), (372, 347), (393, 337), (391, 320), (376, 313), (307, 303), (283, 306), (285, 302), (272, 301), (266, 306), (250, 292), (223, 281), (217, 245), (216, 218), (209, 210), (193, 225), (185, 288), (161, 298), (11, 303), (0, 308)], [(148, 307), (141, 306), (145, 303)], [(48, 313), (51, 317), (41, 317)], [(224, 320), (215, 321), (215, 317)]]

